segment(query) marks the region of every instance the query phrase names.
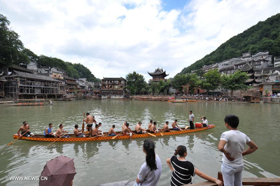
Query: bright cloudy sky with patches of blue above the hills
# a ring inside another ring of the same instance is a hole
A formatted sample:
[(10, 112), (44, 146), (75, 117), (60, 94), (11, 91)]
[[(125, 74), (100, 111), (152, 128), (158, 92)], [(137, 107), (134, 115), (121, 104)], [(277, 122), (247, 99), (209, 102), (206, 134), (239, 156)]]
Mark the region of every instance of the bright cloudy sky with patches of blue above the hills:
[(0, 13), (37, 55), (95, 77), (163, 68), (174, 77), (226, 40), (280, 12), (279, 0), (1, 0)]

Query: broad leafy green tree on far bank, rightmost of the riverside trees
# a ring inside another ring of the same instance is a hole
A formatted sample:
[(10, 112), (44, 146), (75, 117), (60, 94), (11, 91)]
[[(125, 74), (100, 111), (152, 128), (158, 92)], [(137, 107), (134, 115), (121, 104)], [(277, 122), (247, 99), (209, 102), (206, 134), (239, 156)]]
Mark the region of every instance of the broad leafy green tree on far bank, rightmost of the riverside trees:
[(246, 86), (245, 82), (249, 77), (246, 72), (236, 71), (233, 74), (229, 74), (228, 76), (223, 75), (221, 78), (222, 88), (228, 89), (231, 91), (231, 95), (233, 91), (245, 91), (250, 88), (250, 86)]

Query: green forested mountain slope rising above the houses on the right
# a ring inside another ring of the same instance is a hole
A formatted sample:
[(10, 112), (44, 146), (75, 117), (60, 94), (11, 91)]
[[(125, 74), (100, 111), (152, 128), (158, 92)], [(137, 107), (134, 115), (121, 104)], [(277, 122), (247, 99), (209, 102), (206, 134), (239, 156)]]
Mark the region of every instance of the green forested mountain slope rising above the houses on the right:
[(280, 56), (280, 13), (233, 36), (216, 50), (199, 59), (178, 74), (190, 73), (204, 65), (219, 63), (226, 59), (241, 56), (242, 53), (269, 51), (270, 55)]

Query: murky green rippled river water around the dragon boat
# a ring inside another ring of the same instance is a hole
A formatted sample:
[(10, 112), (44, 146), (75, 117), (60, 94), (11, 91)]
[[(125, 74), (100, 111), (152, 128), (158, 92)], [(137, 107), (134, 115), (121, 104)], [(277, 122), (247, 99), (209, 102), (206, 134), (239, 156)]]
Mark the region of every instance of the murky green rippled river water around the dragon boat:
[[(156, 144), (156, 154), (161, 158), (163, 171), (159, 185), (169, 185), (171, 171), (166, 159), (171, 157), (178, 145), (187, 146), (187, 159), (203, 172), (217, 177), (221, 169), (222, 153), (217, 150), (226, 114), (240, 118), (241, 132), (246, 133), (259, 149), (244, 156), (244, 177), (278, 177), (279, 171), (279, 104), (250, 103), (171, 103), (166, 101), (118, 101), (118, 100), (74, 100), (55, 102), (54, 105), (13, 107), (0, 105), (0, 185), (38, 185), (38, 181), (10, 181), (9, 176), (40, 176), (46, 161), (63, 154), (74, 158), (77, 174), (74, 185), (96, 185), (121, 180), (134, 180), (145, 161), (142, 143), (151, 139)], [(23, 121), (30, 124), (31, 132), (42, 134), (49, 123), (54, 129), (61, 123), (73, 131), (74, 125), (82, 127), (83, 112), (95, 115), (102, 122), (101, 130), (107, 131), (115, 124), (116, 131), (124, 121), (134, 128), (138, 121), (147, 128), (150, 119), (162, 127), (165, 121), (178, 119), (180, 126), (187, 124), (189, 110), (193, 110), (195, 121), (205, 115), (210, 130), (177, 134), (174, 136), (94, 141), (94, 142), (28, 142), (17, 140), (13, 145), (12, 134)], [(195, 176), (193, 182), (203, 179)]]

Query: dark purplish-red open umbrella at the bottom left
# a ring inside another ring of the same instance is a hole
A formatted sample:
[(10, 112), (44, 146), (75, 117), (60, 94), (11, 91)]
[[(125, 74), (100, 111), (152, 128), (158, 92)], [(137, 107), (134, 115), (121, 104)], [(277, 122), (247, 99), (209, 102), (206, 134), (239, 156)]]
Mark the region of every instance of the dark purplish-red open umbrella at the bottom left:
[(39, 181), (40, 186), (70, 186), (76, 174), (74, 160), (66, 156), (58, 156), (47, 161), (40, 178), (48, 177), (48, 180)]

